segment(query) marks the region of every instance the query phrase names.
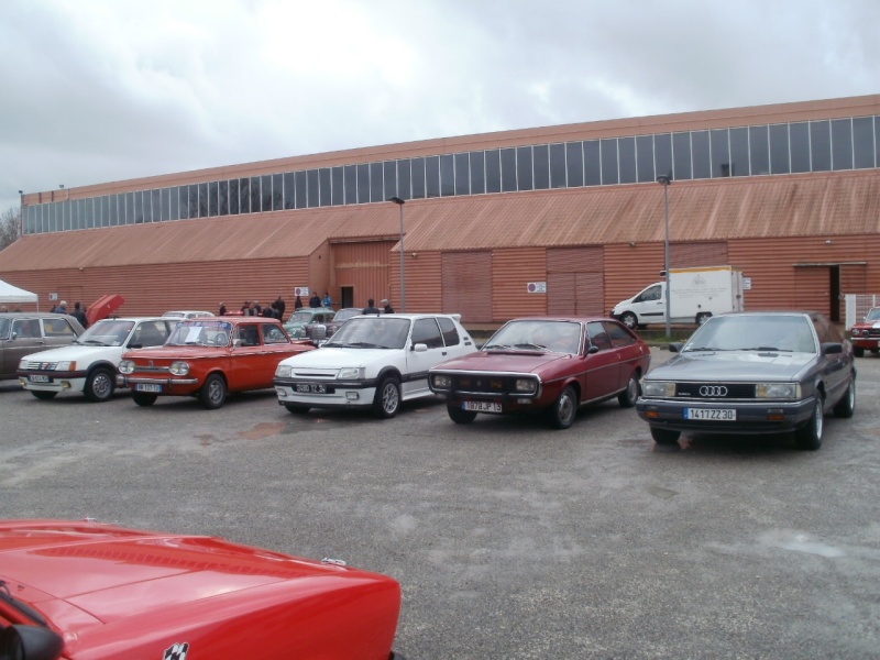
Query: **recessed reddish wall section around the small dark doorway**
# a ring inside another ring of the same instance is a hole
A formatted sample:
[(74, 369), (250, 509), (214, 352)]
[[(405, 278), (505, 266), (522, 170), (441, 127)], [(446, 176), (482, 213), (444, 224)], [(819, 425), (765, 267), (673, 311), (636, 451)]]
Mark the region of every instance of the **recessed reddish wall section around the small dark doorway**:
[[(376, 305), (382, 298), (395, 300), (395, 292), (392, 290), (391, 250), (396, 244), (396, 241), (333, 243), (334, 290), (343, 286), (352, 287), (355, 307), (366, 307), (370, 298)], [(399, 258), (399, 253), (394, 253), (394, 257)], [(399, 271), (399, 266), (397, 270)], [(395, 301), (399, 302), (399, 292)]]

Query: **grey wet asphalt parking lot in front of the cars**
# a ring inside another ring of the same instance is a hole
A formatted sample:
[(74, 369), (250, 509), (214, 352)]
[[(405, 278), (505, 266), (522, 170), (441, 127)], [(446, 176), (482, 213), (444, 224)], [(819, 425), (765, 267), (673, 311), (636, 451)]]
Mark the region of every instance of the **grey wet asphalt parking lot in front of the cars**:
[[(668, 358), (654, 351), (656, 361)], [(274, 393), (139, 408), (0, 383), (0, 517), (90, 516), (344, 559), (404, 588), (396, 650), (450, 658), (880, 657), (880, 358), (818, 452), (658, 448), (437, 402), (295, 417)]]

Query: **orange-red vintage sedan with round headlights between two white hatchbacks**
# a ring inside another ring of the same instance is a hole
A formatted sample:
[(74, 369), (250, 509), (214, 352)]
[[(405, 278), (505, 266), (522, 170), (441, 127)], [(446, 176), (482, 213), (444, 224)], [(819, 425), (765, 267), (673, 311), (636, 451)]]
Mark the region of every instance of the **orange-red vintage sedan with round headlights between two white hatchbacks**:
[(266, 317), (184, 319), (164, 346), (125, 353), (119, 371), (139, 406), (196, 395), (213, 409), (230, 392), (272, 387), (278, 362), (314, 348)]

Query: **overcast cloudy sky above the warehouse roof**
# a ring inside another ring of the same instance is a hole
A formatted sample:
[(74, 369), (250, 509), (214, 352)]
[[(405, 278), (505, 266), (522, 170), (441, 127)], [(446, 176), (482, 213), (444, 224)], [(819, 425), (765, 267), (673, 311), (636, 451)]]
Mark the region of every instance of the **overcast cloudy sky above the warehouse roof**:
[(0, 212), (38, 191), (880, 92), (878, 0), (0, 0)]

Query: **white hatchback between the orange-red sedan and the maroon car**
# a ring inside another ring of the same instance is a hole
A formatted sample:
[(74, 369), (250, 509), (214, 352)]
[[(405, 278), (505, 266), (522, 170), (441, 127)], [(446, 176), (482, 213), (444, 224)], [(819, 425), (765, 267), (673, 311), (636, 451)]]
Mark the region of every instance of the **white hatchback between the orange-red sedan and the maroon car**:
[(397, 415), (400, 402), (431, 396), (428, 370), (476, 350), (460, 315), (395, 314), (349, 319), (322, 348), (282, 361), (278, 403), (310, 408), (370, 408)]

